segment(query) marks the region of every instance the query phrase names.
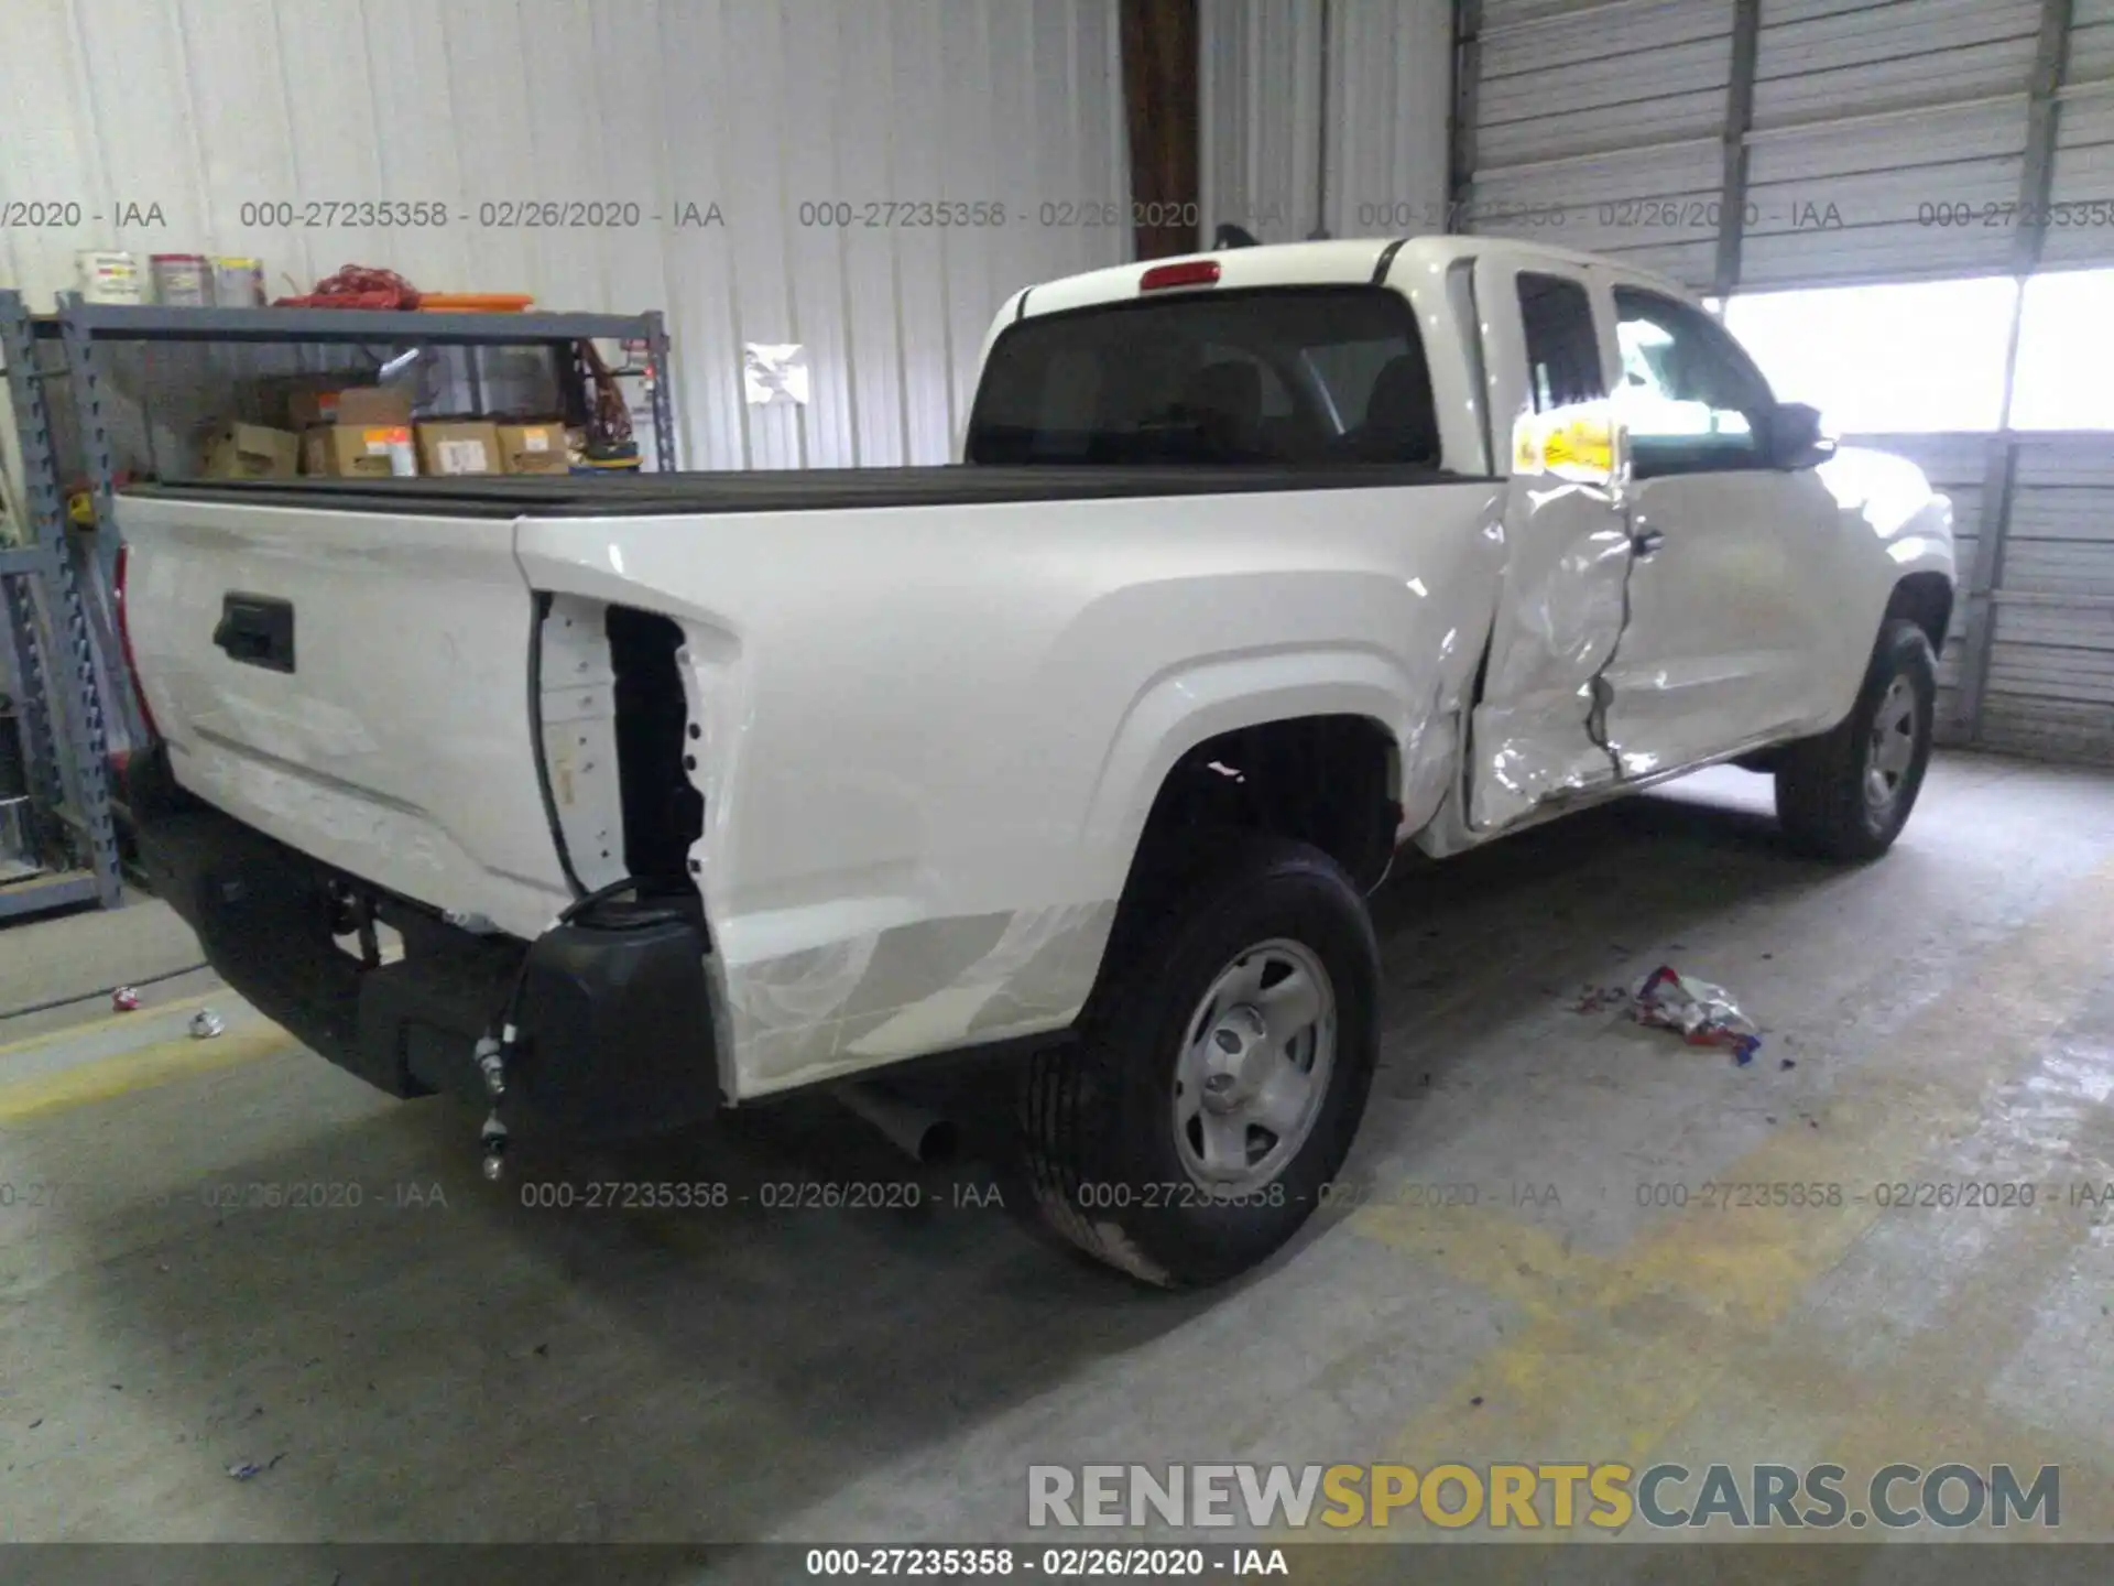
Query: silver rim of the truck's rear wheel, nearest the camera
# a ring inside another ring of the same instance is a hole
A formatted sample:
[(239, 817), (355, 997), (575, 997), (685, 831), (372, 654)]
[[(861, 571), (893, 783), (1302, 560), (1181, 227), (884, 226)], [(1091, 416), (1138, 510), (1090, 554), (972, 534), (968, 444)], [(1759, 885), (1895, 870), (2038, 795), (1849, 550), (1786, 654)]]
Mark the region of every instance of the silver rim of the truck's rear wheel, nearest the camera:
[(1260, 1188), (1300, 1155), (1336, 1066), (1336, 988), (1311, 947), (1237, 954), (1184, 1026), (1175, 1152), (1213, 1191)]

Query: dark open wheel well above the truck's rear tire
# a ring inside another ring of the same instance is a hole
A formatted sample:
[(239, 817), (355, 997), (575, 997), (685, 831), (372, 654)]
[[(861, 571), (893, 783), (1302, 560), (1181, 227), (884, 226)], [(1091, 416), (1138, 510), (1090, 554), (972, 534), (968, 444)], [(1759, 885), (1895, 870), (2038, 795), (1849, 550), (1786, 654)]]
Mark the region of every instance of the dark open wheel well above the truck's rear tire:
[(1133, 875), (1207, 829), (1309, 842), (1374, 888), (1395, 856), (1399, 757), (1368, 717), (1294, 717), (1207, 738), (1167, 772)]

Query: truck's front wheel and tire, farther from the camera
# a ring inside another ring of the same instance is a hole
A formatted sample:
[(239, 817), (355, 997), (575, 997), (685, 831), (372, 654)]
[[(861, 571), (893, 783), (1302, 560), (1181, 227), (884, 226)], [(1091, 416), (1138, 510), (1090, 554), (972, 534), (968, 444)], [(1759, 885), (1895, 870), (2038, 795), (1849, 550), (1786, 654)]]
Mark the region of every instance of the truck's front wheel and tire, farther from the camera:
[(1924, 787), (1936, 702), (1930, 639), (1888, 620), (1850, 715), (1786, 746), (1776, 768), (1776, 816), (1793, 846), (1837, 863), (1892, 848)]

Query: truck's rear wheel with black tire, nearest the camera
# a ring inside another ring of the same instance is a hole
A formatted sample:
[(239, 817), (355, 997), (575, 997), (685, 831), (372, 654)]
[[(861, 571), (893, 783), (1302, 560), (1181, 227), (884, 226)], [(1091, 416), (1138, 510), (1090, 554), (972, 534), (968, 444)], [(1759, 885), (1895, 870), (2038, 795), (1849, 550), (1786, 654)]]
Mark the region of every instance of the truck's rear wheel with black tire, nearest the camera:
[(1317, 848), (1228, 837), (1110, 941), (1076, 1040), (1023, 1078), (1042, 1220), (1163, 1288), (1218, 1284), (1313, 1214), (1366, 1112), (1380, 956)]

